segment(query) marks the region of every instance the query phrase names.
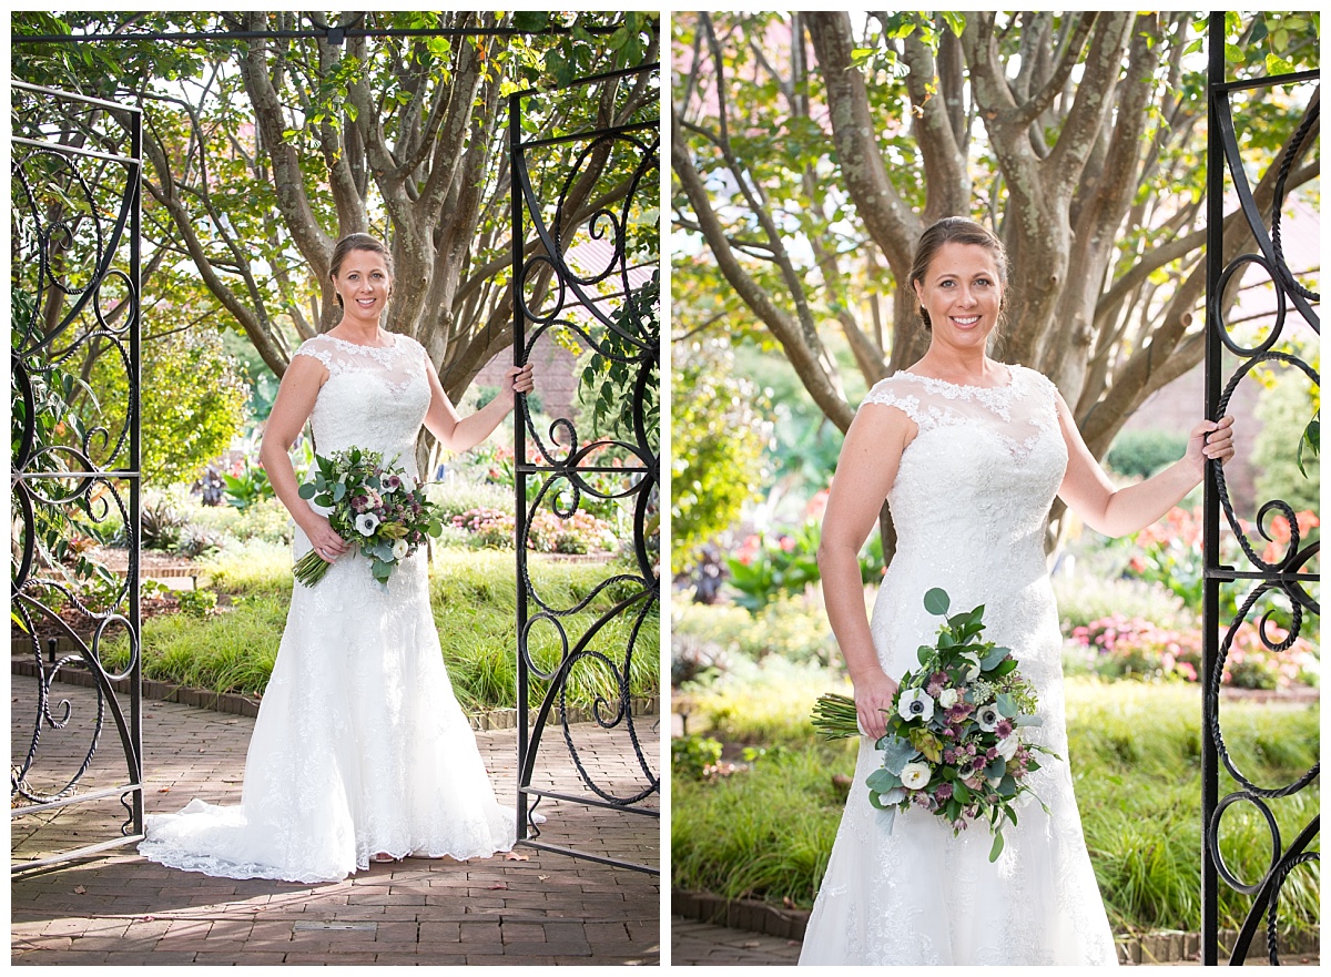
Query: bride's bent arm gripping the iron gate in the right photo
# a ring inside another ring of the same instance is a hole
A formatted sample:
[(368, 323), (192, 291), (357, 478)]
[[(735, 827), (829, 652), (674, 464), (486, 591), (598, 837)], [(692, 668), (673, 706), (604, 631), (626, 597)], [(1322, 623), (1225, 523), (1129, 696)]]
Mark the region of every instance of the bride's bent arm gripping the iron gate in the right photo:
[(1058, 426), (1067, 445), (1067, 471), (1058, 495), (1106, 536), (1126, 536), (1150, 526), (1201, 483), (1209, 459), (1223, 465), (1234, 457), (1234, 418), (1202, 421), (1189, 434), (1187, 451), (1179, 461), (1145, 482), (1114, 488), (1082, 441), (1067, 403), (1062, 395), (1057, 398)]

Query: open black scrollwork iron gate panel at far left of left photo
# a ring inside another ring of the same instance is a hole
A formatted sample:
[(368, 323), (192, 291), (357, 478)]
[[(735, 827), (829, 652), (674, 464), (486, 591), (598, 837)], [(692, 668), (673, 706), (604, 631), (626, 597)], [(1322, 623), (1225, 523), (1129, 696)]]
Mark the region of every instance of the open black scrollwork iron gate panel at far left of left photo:
[[(11, 869), (24, 872), (144, 836), (137, 531), (142, 142), (137, 108), (20, 81), (11, 83), (11, 92), (9, 600), (15, 652), (27, 648), (36, 699), (13, 703)], [(105, 395), (96, 401), (85, 379), (95, 369), (104, 389), (121, 391), (118, 402)], [(124, 571), (84, 555), (88, 543), (110, 535), (116, 520), (125, 527)], [(104, 659), (113, 643), (121, 659), (109, 667)], [(61, 672), (73, 671), (92, 676), (95, 707), (75, 705), (56, 689)], [(129, 684), (128, 713), (112, 687), (121, 680)], [(27, 688), (17, 675), (12, 685), (16, 696)], [(109, 771), (93, 763), (108, 717), (124, 755), (124, 768), (113, 761)], [(118, 801), (124, 819), (114, 825), (121, 815), (113, 807), (105, 829), (110, 837), (83, 844), (89, 808), (76, 813), (72, 805), (98, 801)], [(71, 823), (67, 837), (59, 828)], [(44, 831), (57, 836), (55, 845)], [(60, 841), (73, 847), (52, 853), (64, 847)]]

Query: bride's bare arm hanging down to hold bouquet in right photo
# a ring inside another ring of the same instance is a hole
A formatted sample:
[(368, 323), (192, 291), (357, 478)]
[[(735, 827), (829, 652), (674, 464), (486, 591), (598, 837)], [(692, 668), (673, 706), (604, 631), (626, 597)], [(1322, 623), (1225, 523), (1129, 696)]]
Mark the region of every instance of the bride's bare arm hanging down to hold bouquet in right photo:
[(855, 683), (860, 728), (873, 739), (886, 729), (882, 709), (892, 707), (897, 683), (882, 671), (873, 647), (860, 579), (860, 547), (897, 478), (901, 453), (917, 433), (916, 423), (897, 407), (874, 403), (860, 409), (841, 445), (819, 542), (828, 620)]

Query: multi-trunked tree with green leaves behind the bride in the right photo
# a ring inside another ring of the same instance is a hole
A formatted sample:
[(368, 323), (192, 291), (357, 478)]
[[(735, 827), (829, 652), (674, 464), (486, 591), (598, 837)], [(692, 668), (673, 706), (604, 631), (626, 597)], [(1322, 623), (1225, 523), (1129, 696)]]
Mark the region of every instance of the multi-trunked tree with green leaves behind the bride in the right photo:
[[(1316, 13), (1226, 20), (1233, 77), (1318, 64)], [(775, 339), (845, 430), (836, 347), (866, 385), (918, 359), (928, 334), (902, 294), (916, 241), (973, 217), (1012, 258), (994, 354), (1049, 375), (1103, 455), (1203, 353), (1205, 27), (1194, 13), (677, 15), (676, 335)], [(1267, 210), (1270, 164), (1314, 89), (1238, 96)], [(1288, 186), (1318, 174), (1303, 152)], [(1226, 260), (1251, 242), (1236, 217)]]

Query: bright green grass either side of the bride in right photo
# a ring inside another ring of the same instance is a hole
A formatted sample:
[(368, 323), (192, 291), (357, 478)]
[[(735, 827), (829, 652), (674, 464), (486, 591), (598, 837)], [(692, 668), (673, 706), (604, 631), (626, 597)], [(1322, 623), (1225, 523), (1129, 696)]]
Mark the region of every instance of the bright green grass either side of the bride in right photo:
[[(767, 745), (752, 771), (716, 783), (672, 783), (673, 884), (728, 897), (791, 898), (809, 906), (832, 849), (853, 775), (855, 747), (813, 740), (816, 695), (829, 672), (761, 674), (689, 696), (689, 732), (709, 725), (731, 743)], [(752, 704), (752, 708), (748, 708)], [(1316, 707), (1222, 703), (1226, 741), (1262, 787), (1288, 783), (1318, 757)], [(1197, 687), (1067, 682), (1069, 751), (1091, 863), (1115, 932), (1199, 928), (1201, 695)], [(771, 749), (771, 747), (781, 747)], [(1221, 796), (1234, 787), (1222, 777)], [(1316, 785), (1271, 801), (1288, 844), (1318, 811)], [(1243, 880), (1270, 859), (1270, 836), (1248, 804), (1226, 812), (1222, 852)], [(1303, 865), (1280, 898), (1284, 925), (1318, 921), (1318, 868)], [(1221, 885), (1221, 925), (1236, 926), (1247, 897)]]

